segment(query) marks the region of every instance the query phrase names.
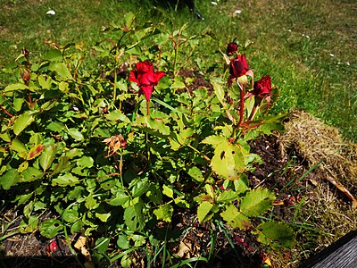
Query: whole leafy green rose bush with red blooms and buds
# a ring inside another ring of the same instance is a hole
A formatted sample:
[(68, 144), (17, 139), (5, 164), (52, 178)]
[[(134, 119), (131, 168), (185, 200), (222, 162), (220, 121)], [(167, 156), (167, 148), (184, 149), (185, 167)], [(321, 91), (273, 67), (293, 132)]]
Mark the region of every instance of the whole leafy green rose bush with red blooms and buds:
[(0, 92), (0, 186), (23, 214), (21, 233), (80, 232), (96, 261), (122, 266), (139, 248), (156, 257), (177, 213), (294, 245), (282, 222), (253, 223), (275, 194), (246, 176), (262, 163), (249, 141), (282, 130), (284, 115), (269, 113), (278, 88), (269, 75), (254, 81), (246, 46), (229, 43), (212, 88), (188, 90), (194, 79), (180, 73), (210, 37), (184, 29), (138, 27), (128, 13), (95, 46), (51, 43), (36, 63), (23, 49), (19, 80)]

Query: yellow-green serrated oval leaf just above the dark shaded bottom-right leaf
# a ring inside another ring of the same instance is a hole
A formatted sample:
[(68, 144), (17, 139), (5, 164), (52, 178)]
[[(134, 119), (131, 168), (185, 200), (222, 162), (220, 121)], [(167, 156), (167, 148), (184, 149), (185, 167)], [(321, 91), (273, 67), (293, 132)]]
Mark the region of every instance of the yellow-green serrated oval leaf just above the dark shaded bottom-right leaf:
[(271, 207), (275, 200), (274, 193), (266, 188), (256, 188), (249, 191), (239, 205), (240, 211), (246, 216), (259, 216)]

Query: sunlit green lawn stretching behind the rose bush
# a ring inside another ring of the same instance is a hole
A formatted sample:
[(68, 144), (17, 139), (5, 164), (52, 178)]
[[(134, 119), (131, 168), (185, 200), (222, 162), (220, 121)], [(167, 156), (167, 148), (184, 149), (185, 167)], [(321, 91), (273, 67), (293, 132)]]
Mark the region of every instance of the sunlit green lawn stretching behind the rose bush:
[[(187, 35), (210, 32), (200, 39), (197, 54), (188, 66), (212, 75), (221, 61), (218, 48), (237, 38), (253, 45), (248, 63), (259, 79), (270, 74), (281, 88), (278, 111), (293, 107), (307, 110), (339, 128), (345, 138), (357, 141), (357, 3), (346, 1), (248, 1), (196, 0), (204, 21), (195, 20), (187, 8), (154, 9), (142, 1), (5, 1), (0, 0), (0, 66), (16, 64), (25, 46), (40, 58), (48, 46), (44, 40), (88, 45), (106, 38), (100, 30), (125, 13), (137, 13), (137, 21), (163, 21), (179, 29), (188, 22)], [(90, 3), (90, 4), (88, 4)], [(55, 15), (46, 12), (54, 10)], [(241, 11), (237, 13), (236, 11)], [(138, 23), (140, 24), (140, 23)], [(199, 60), (197, 61), (197, 58)], [(0, 87), (15, 78), (0, 76)]]

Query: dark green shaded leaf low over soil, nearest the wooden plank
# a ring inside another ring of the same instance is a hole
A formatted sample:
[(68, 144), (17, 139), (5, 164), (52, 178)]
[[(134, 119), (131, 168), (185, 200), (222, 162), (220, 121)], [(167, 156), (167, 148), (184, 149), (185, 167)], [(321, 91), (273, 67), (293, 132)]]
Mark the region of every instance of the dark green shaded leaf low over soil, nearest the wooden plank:
[(295, 233), (285, 224), (280, 222), (264, 222), (254, 231), (264, 245), (270, 245), (273, 249), (292, 248), (295, 244)]

